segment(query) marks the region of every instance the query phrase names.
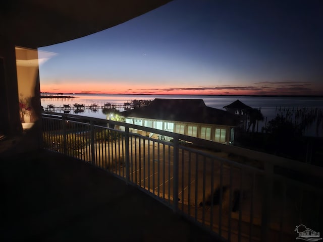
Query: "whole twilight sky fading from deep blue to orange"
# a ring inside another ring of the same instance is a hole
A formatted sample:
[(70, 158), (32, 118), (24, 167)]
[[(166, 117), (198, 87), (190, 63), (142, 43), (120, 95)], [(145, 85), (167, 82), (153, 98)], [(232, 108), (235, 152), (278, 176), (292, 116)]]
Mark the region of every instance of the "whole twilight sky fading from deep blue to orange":
[(55, 53), (41, 92), (323, 95), (322, 12), (320, 0), (177, 0), (39, 48)]

